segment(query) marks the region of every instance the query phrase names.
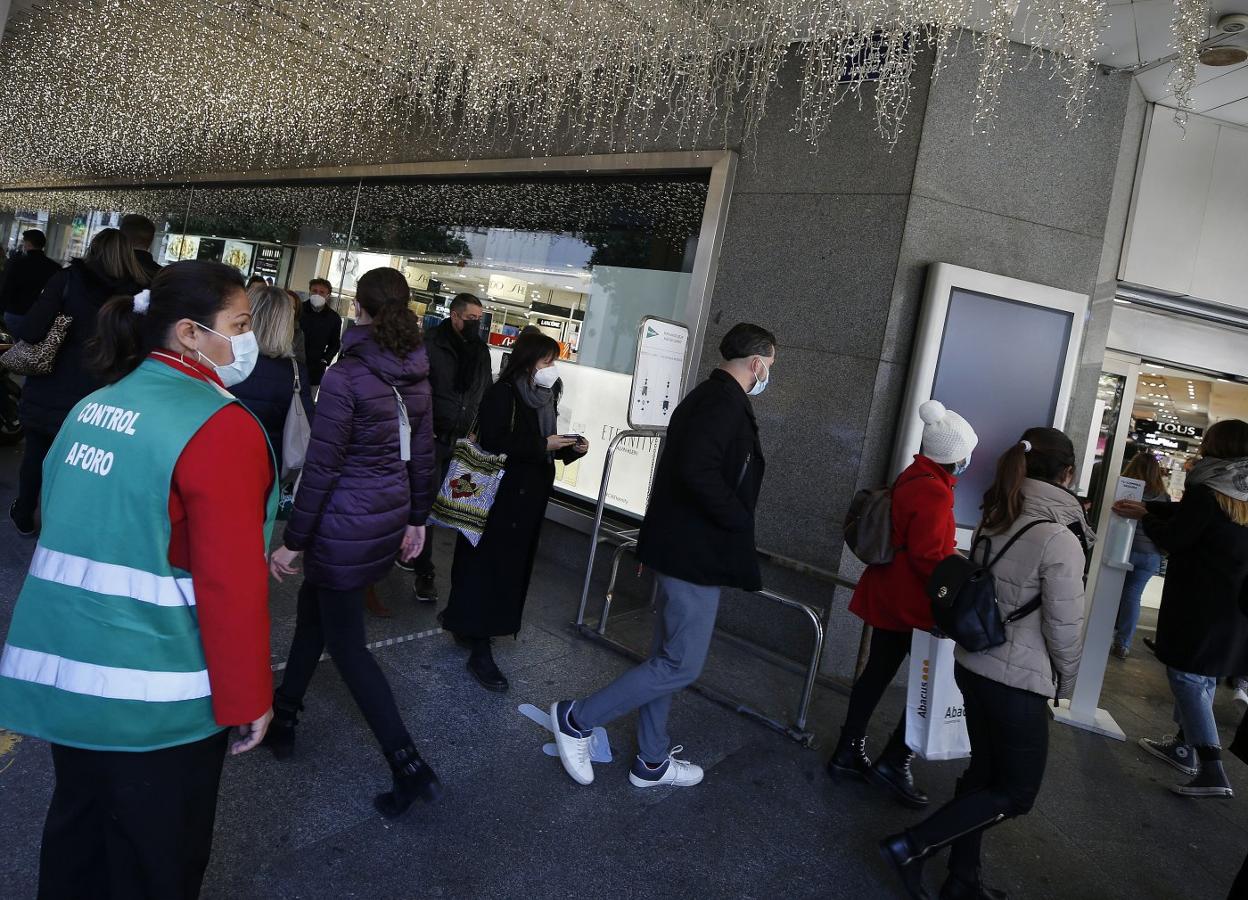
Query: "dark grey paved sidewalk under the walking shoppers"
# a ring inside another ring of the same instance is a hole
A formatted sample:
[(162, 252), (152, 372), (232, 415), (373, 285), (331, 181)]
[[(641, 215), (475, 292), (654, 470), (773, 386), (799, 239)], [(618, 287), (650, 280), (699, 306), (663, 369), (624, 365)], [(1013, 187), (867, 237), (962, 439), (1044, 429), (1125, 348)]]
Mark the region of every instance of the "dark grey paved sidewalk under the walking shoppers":
[[(0, 504), (12, 497), (17, 454), (0, 449)], [(0, 635), (32, 544), (0, 532)], [(318, 670), (288, 763), (260, 750), (226, 763), (206, 898), (899, 898), (875, 851), (879, 836), (919, 815), (865, 784), (824, 774), (826, 750), (804, 750), (769, 729), (686, 692), (671, 733), (706, 770), (695, 789), (639, 791), (628, 784), (633, 720), (610, 730), (615, 763), (575, 785), (542, 754), (542, 730), (517, 707), (547, 707), (623, 672), (618, 654), (568, 628), (580, 592), (574, 568), (584, 539), (547, 529), (525, 628), (498, 642), (512, 678), (505, 695), (482, 690), (463, 652), (437, 633), (434, 612), (409, 600), (396, 572), (381, 592), (394, 609), (369, 622), (383, 640), (426, 633), (377, 650), (422, 753), (447, 785), (444, 803), (388, 823), (372, 809), (386, 771), (376, 745), (331, 663)], [(451, 542), (437, 558), (449, 572)], [(448, 587), (442, 584), (443, 590)], [(273, 592), (275, 664), (293, 627), (295, 584)], [(768, 614), (760, 610), (760, 614)], [(623, 614), (613, 633), (644, 630)], [(1156, 660), (1111, 660), (1106, 705), (1132, 741), (1168, 728), (1164, 673)], [(754, 668), (749, 668), (754, 667)], [(753, 663), (716, 642), (706, 675), (771, 692), (782, 710), (797, 678)], [(763, 700), (760, 700), (763, 702)], [(894, 690), (874, 726), (879, 748), (902, 703)], [(845, 698), (820, 689), (815, 729), (835, 739)], [(1237, 710), (1219, 695), (1224, 735)], [(987, 881), (1015, 900), (1042, 898), (1226, 896), (1248, 851), (1248, 769), (1228, 763), (1243, 796), (1193, 801), (1172, 796), (1172, 774), (1138, 750), (1068, 728), (1051, 729), (1051, 758), (1033, 813), (985, 840)], [(916, 764), (938, 801), (961, 764)], [(32, 898), (39, 834), (51, 790), (47, 748), (9, 746), (0, 735), (0, 898)], [(938, 885), (940, 865), (930, 883)]]

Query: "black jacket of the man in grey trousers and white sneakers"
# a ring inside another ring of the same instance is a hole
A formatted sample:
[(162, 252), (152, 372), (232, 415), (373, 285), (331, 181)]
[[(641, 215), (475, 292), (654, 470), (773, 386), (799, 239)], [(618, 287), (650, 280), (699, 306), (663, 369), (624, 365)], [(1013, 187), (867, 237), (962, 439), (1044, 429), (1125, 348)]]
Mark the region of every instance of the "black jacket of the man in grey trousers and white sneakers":
[(749, 396), (733, 376), (711, 372), (671, 413), (640, 560), (694, 584), (761, 588), (754, 511), (765, 468)]

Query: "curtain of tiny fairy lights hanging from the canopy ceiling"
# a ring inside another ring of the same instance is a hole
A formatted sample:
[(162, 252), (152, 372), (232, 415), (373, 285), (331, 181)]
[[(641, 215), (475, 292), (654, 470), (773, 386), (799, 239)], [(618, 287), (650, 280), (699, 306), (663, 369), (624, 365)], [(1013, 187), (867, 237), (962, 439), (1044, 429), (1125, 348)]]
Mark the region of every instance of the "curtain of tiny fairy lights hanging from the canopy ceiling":
[[(1182, 101), (1208, 0), (1176, 4)], [(895, 142), (916, 66), (956, 54), (988, 131), (1012, 37), (1077, 126), (1104, 21), (1106, 0), (66, 0), (0, 41), (0, 183), (748, 144), (782, 77), (796, 109), (768, 127), (817, 147), (850, 102)]]

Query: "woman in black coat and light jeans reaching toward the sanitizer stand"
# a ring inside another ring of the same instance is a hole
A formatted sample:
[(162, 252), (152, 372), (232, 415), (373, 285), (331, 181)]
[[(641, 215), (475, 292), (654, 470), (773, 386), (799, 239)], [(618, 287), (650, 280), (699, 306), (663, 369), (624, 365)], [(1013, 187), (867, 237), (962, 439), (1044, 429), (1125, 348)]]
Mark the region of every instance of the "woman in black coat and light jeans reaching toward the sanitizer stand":
[[(1213, 718), (1218, 679), (1248, 672), (1248, 422), (1209, 427), (1179, 503), (1113, 504), (1169, 557), (1157, 618), (1157, 658), (1174, 694), (1172, 738), (1142, 738), (1149, 754), (1194, 778), (1182, 796), (1232, 796)], [(1194, 751), (1194, 753), (1193, 753)]]

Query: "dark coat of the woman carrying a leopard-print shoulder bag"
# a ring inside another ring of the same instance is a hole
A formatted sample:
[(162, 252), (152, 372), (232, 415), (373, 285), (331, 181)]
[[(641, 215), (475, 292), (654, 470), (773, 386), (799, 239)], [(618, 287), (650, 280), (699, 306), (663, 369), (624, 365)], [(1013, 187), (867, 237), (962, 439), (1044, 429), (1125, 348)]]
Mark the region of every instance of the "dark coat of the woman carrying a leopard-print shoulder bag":
[(47, 337), (47, 331), (61, 312), (71, 316), (74, 322), (56, 355), (52, 371), (26, 379), (20, 412), (27, 428), (55, 434), (74, 404), (102, 386), (86, 363), (86, 345), (95, 337), (100, 307), (115, 296), (134, 296), (140, 290), (129, 278), (114, 278), (82, 260), (75, 260), (69, 268), (62, 268), (51, 277), (26, 313), (17, 337), (39, 343)]

